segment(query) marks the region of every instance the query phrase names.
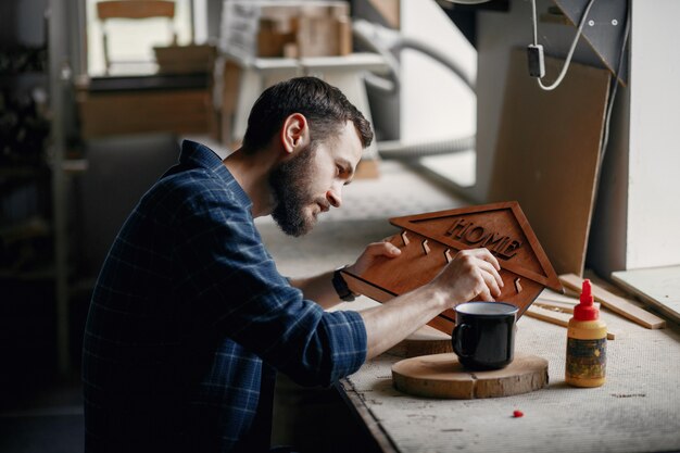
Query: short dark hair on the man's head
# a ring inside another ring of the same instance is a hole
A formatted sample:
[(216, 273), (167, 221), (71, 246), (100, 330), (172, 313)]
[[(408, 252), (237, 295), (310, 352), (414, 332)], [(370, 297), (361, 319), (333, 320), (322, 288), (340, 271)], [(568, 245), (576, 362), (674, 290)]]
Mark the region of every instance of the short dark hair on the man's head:
[(265, 148), (293, 113), (307, 118), (312, 143), (340, 134), (348, 121), (354, 124), (364, 148), (373, 141), (370, 123), (342, 91), (316, 77), (295, 77), (260, 95), (248, 117), (243, 150), (255, 152)]

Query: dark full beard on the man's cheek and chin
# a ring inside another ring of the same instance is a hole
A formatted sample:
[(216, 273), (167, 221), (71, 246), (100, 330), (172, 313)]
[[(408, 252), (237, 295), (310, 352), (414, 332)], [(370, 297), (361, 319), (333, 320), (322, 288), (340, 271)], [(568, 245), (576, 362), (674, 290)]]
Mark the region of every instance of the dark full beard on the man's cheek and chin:
[(302, 236), (315, 224), (313, 216), (304, 214), (304, 209), (314, 202), (308, 187), (315, 152), (315, 148), (307, 146), (290, 160), (281, 162), (269, 175), (275, 203), (272, 217), (290, 236)]

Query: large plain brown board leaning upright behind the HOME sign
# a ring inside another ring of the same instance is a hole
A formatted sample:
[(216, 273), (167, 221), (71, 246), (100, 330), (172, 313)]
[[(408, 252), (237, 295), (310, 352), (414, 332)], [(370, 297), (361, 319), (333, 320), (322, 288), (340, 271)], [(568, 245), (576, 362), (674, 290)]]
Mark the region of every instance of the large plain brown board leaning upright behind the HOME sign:
[[(546, 73), (563, 62), (545, 59)], [(571, 63), (543, 91), (511, 55), (489, 200), (517, 200), (558, 274), (582, 275), (601, 155), (609, 73)]]

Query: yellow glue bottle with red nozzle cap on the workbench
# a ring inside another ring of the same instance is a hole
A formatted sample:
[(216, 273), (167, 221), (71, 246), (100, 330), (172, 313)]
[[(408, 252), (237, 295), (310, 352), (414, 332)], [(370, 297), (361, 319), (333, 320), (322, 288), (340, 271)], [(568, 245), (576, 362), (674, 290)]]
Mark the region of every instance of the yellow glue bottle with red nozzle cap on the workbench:
[(593, 304), (590, 280), (583, 280), (580, 302), (567, 329), (565, 379), (575, 387), (600, 387), (607, 363), (607, 326)]

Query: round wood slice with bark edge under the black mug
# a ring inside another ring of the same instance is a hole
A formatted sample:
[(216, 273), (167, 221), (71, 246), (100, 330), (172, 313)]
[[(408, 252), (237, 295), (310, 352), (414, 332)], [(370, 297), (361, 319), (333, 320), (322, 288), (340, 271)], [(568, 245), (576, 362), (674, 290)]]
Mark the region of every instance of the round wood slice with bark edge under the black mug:
[(547, 386), (547, 361), (516, 354), (503, 369), (470, 372), (454, 353), (405, 358), (392, 365), (396, 390), (415, 397), (473, 400), (528, 393)]

